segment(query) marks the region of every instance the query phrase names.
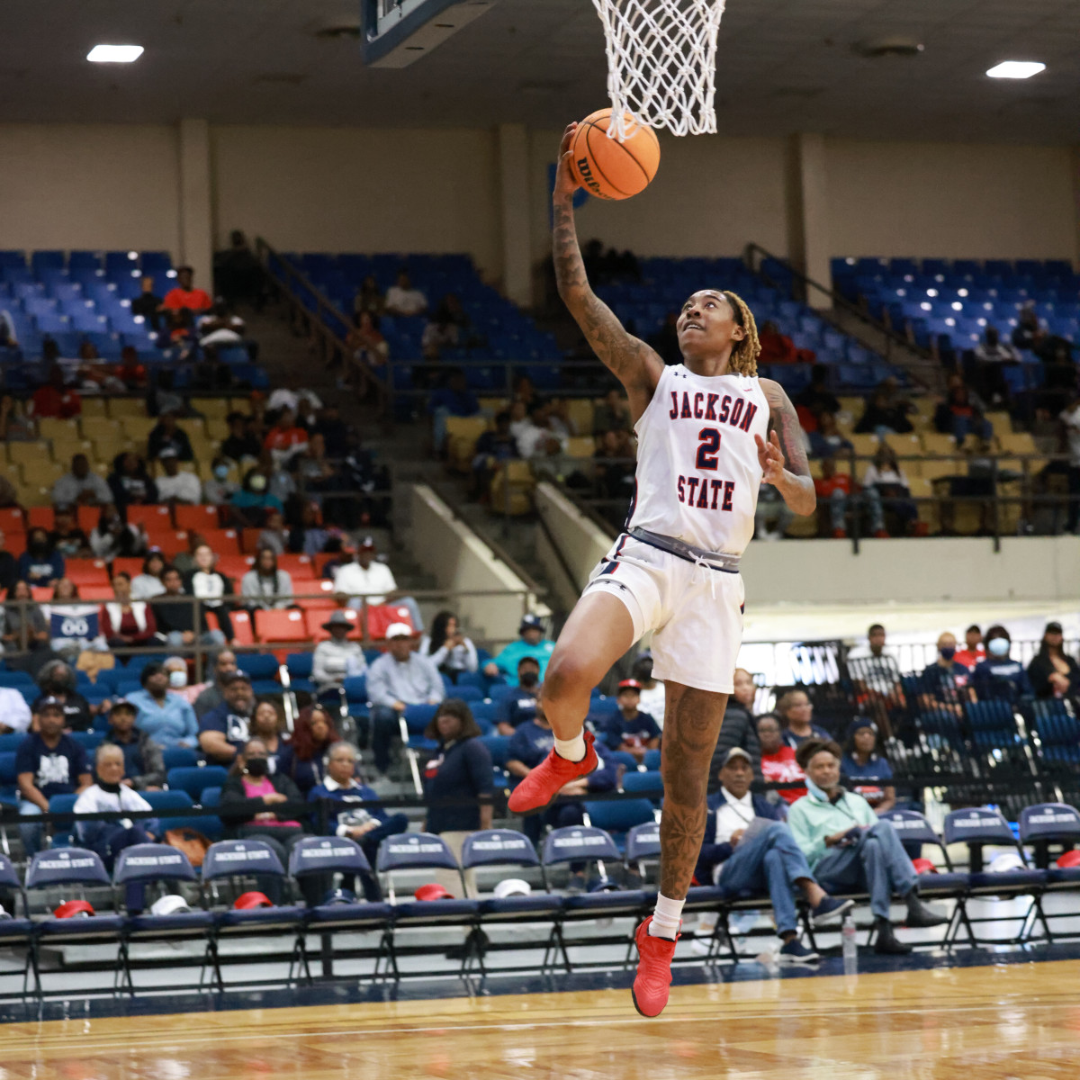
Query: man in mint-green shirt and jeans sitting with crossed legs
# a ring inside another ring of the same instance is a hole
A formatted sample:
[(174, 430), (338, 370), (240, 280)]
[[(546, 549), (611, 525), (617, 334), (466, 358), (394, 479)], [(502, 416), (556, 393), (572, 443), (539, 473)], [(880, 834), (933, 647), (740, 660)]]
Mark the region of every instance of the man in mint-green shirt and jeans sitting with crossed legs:
[(875, 951), (910, 953), (910, 945), (893, 933), (893, 893), (907, 905), (907, 927), (949, 920), (919, 900), (919, 877), (892, 824), (879, 820), (861, 795), (840, 786), (841, 757), (832, 740), (813, 739), (799, 747), (796, 760), (806, 772), (808, 794), (792, 805), (787, 822), (822, 889), (869, 892)]

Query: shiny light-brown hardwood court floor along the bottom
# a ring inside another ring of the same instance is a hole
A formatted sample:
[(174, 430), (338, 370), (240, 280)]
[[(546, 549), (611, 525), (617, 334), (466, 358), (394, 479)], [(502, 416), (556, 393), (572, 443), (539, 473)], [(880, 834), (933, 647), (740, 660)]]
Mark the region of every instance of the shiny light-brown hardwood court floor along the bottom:
[(10, 1024), (0, 1080), (1075, 1080), (1080, 961)]

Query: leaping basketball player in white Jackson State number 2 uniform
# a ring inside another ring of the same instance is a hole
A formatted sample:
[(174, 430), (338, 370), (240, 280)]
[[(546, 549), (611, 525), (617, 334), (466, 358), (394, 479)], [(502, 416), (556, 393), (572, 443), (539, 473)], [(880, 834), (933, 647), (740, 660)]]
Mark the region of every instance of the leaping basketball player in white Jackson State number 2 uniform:
[(635, 934), (633, 996), (643, 1016), (657, 1016), (667, 1003), (704, 835), (708, 766), (732, 690), (744, 598), (739, 558), (754, 535), (758, 488), (774, 485), (796, 514), (812, 513), (815, 498), (795, 408), (777, 382), (758, 379), (757, 328), (738, 296), (694, 293), (677, 323), (684, 362), (665, 367), (593, 294), (573, 225), (576, 127), (563, 135), (553, 197), (558, 293), (630, 395), (637, 477), (624, 531), (593, 571), (548, 666), (543, 707), (555, 747), (510, 808), (536, 813), (596, 768), (593, 735), (583, 729), (590, 691), (652, 631), (653, 671), (666, 689), (660, 894)]

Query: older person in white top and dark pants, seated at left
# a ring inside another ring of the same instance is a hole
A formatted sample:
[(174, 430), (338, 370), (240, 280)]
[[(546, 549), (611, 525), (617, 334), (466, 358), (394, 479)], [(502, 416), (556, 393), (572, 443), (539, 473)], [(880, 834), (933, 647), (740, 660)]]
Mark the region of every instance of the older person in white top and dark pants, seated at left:
[[(141, 813), (153, 808), (132, 786), (124, 784), (124, 752), (112, 743), (102, 743), (94, 755), (94, 772), (97, 782), (83, 788), (75, 800), (77, 814), (120, 813), (130, 811)], [(111, 874), (117, 856), (124, 848), (136, 843), (152, 843), (161, 833), (157, 818), (141, 818), (132, 822), (123, 821), (76, 821), (79, 845), (96, 851)], [(125, 905), (129, 914), (143, 909), (145, 885), (126, 887)]]

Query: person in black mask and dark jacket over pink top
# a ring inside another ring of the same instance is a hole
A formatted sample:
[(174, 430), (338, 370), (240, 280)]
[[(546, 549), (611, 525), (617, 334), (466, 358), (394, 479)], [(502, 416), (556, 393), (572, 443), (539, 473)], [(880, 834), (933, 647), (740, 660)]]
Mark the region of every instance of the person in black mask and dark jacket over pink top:
[[(256, 839), (273, 849), (282, 866), (288, 854), (303, 839), (303, 826), (292, 811), (275, 809), (282, 802), (299, 802), (300, 792), (284, 773), (270, 772), (267, 747), (261, 739), (245, 740), (235, 755), (229, 775), (221, 785), (218, 816), (228, 835), (242, 840)], [(282, 900), (282, 879), (276, 874), (256, 878), (259, 891), (274, 903)], [(309, 904), (319, 903), (311, 879), (301, 879), (300, 889)]]

